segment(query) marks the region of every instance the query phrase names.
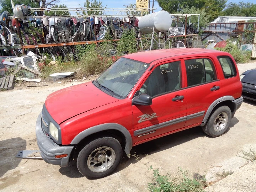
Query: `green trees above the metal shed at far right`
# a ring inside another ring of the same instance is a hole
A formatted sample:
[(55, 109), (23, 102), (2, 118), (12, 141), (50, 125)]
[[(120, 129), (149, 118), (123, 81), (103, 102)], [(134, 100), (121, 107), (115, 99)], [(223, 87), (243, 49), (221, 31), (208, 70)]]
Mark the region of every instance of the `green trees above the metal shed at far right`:
[(253, 17), (256, 13), (256, 4), (249, 3), (249, 2), (239, 2), (234, 3), (230, 2), (226, 5), (226, 8), (223, 10), (223, 16), (247, 16)]

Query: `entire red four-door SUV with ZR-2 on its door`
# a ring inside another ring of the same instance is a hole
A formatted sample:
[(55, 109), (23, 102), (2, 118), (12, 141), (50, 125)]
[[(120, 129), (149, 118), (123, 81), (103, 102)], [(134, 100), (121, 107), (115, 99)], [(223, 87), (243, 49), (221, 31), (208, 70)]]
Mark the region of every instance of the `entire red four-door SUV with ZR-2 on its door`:
[(191, 127), (226, 132), (241, 106), (234, 58), (209, 49), (128, 54), (96, 80), (50, 94), (36, 122), (44, 161), (75, 161), (88, 178), (111, 174), (123, 151)]

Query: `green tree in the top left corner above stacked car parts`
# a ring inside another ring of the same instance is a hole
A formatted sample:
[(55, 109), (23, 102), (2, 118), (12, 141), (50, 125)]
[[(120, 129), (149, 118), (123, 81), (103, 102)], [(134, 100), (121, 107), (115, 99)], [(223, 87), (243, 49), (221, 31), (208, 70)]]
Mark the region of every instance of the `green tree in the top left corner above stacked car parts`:
[[(14, 5), (25, 4), (31, 8), (37, 8), (39, 6), (38, 2), (36, 2), (35, 0), (13, 0), (13, 2)], [(4, 11), (8, 11), (11, 15), (13, 15), (11, 0), (0, 0), (0, 5), (2, 7), (2, 9), (0, 10), (1, 13)]]

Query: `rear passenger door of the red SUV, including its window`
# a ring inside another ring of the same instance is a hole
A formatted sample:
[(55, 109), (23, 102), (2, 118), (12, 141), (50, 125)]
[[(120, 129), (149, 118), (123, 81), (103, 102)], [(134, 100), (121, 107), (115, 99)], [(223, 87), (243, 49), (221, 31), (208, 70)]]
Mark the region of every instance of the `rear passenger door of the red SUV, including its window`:
[(187, 121), (185, 127), (201, 123), (208, 107), (222, 96), (222, 84), (213, 60), (196, 57), (184, 60), (186, 67)]

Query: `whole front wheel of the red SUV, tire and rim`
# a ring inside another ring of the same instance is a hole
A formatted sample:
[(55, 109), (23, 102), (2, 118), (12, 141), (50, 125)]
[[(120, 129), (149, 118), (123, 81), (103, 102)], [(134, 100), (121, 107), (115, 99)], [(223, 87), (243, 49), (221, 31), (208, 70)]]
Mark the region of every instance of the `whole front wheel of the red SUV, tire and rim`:
[(80, 173), (88, 178), (110, 175), (123, 155), (119, 141), (113, 137), (102, 137), (91, 141), (79, 152), (76, 161)]

